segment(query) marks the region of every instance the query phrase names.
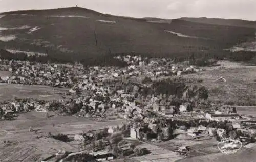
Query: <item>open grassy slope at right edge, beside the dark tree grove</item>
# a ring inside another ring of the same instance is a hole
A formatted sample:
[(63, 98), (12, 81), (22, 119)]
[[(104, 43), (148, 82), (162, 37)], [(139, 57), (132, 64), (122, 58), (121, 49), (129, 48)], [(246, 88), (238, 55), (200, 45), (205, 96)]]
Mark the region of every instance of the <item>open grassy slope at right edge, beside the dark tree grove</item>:
[[(243, 66), (237, 63), (221, 62), (224, 69), (206, 68), (200, 74), (184, 77), (202, 79), (200, 85), (209, 89), (209, 100), (223, 105), (255, 105), (256, 102), (256, 66)], [(220, 77), (226, 82), (216, 82)], [(199, 83), (198, 83), (199, 84)]]

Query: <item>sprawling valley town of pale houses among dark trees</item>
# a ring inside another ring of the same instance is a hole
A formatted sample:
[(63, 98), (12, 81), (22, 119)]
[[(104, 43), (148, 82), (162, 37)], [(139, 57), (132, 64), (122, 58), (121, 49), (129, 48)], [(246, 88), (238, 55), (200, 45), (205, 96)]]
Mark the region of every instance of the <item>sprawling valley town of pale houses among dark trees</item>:
[[(160, 154), (164, 161), (175, 161), (219, 152), (217, 143), (223, 138), (239, 140), (245, 148), (254, 146), (256, 120), (239, 114), (236, 106), (208, 101), (207, 87), (195, 84), (202, 80), (185, 77), (203, 72), (203, 67), (132, 54), (113, 59), (127, 66), (84, 67), (78, 62), (1, 58), (1, 70), (10, 73), (1, 77), (2, 84), (58, 87), (65, 93), (60, 94), (61, 99), (5, 100), (0, 103), (0, 122), (15, 122), (19, 116), (33, 112), (43, 116), (38, 120), (50, 121), (59, 116), (75, 117), (84, 120), (84, 124), (88, 119), (105, 122), (100, 128), (95, 126), (77, 133), (63, 133), (55, 123), (54, 132), (27, 127), (26, 131), (35, 139), (65, 143), (55, 153), (40, 157), (41, 161), (157, 161)], [(222, 68), (215, 60), (208, 64)], [(122, 122), (108, 125), (109, 120)], [(15, 143), (6, 137), (1, 137), (4, 145)], [(199, 149), (203, 143), (208, 143), (208, 147)]]

